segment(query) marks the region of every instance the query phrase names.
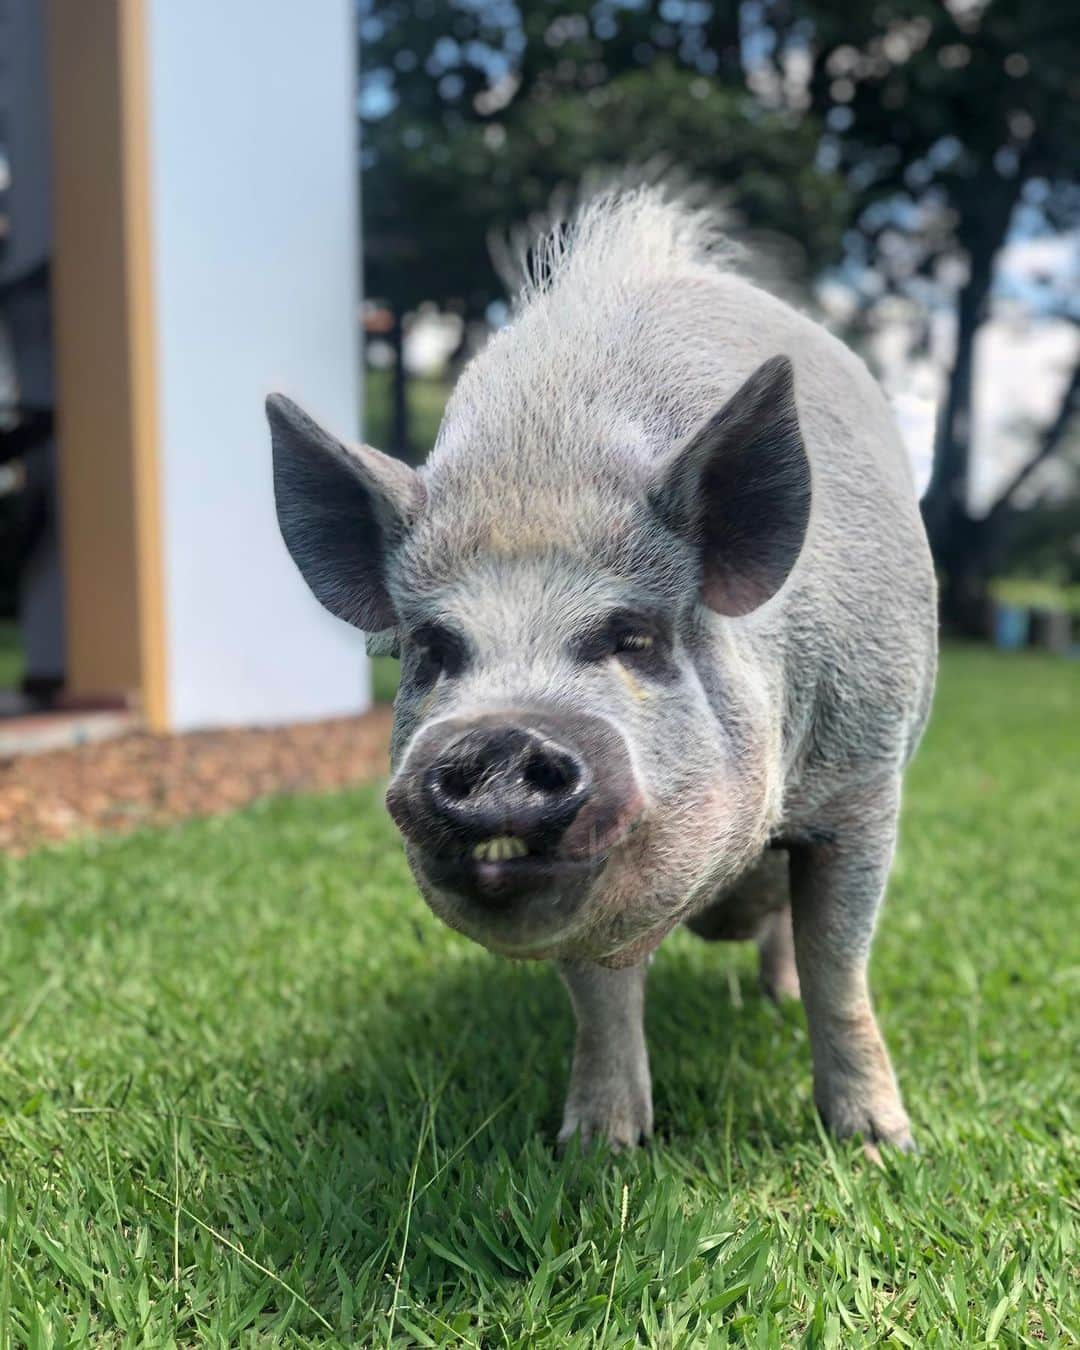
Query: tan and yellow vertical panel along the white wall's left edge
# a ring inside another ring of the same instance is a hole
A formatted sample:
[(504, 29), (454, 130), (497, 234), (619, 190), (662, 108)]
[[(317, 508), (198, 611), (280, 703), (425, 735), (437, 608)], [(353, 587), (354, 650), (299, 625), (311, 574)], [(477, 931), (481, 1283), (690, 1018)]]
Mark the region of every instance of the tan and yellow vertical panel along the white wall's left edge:
[(144, 0), (50, 0), (68, 684), (167, 721)]

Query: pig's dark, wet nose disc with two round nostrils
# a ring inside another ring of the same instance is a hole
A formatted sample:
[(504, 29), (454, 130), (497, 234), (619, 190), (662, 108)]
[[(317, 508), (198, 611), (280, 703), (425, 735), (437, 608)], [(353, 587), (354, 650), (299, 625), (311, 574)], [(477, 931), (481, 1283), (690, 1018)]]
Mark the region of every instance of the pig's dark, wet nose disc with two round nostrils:
[(463, 842), (508, 838), (554, 848), (591, 791), (591, 775), (570, 747), (505, 725), (459, 736), (423, 774), (433, 821)]

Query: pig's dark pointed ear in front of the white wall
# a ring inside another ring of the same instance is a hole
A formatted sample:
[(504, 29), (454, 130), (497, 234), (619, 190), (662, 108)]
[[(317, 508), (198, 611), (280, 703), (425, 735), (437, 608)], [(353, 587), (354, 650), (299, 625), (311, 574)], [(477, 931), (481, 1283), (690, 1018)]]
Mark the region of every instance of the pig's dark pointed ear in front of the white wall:
[(266, 400), (282, 537), (323, 605), (364, 632), (392, 628), (386, 559), (424, 505), (408, 464), (329, 436), (282, 394)]

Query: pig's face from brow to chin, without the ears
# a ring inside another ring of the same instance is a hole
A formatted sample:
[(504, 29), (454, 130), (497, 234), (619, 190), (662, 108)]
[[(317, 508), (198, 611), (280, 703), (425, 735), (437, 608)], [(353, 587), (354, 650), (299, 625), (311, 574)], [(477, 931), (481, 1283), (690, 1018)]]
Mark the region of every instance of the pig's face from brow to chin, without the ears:
[(554, 551), (413, 603), (387, 806), (428, 903), (520, 956), (651, 932), (724, 829), (725, 747), (670, 598)]

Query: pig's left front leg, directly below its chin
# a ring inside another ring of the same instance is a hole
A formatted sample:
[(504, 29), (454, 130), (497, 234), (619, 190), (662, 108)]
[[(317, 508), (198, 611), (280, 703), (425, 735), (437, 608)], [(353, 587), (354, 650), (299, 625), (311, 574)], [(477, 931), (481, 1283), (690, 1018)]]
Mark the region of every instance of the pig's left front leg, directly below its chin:
[(618, 1150), (652, 1134), (652, 1084), (645, 1049), (645, 965), (609, 971), (560, 961), (578, 1034), (559, 1143), (606, 1139)]

